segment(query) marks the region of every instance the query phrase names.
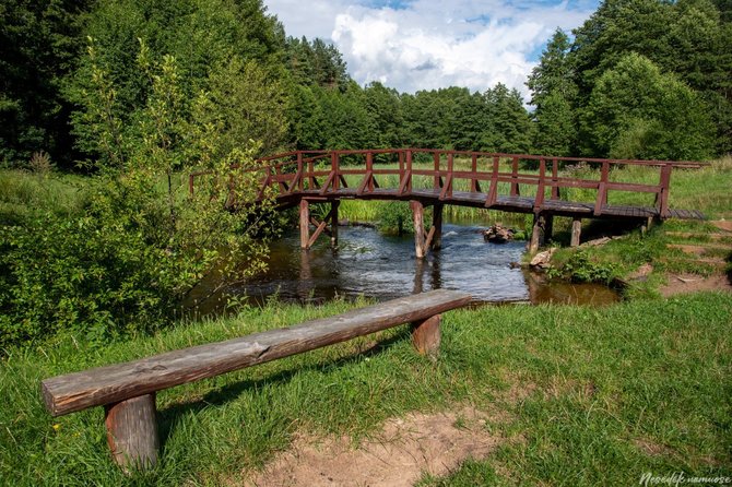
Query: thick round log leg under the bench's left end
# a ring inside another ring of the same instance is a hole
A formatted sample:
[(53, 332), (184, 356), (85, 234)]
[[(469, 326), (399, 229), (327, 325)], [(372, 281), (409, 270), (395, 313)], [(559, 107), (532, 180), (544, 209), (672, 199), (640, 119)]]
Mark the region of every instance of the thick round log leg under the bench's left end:
[(154, 467), (160, 448), (155, 393), (108, 404), (104, 412), (115, 462), (127, 473)]

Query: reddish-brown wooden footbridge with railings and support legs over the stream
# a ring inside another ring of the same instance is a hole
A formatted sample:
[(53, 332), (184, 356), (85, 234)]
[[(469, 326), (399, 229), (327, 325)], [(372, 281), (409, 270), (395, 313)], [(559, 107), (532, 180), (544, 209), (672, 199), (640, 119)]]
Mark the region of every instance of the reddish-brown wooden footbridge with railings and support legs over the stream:
[[(299, 206), (300, 246), (310, 248), (326, 233), (338, 239), (338, 207), (343, 199), (409, 201), (415, 228), (417, 258), (441, 239), (442, 206), (453, 204), (534, 215), (530, 250), (551, 238), (554, 216), (572, 218), (571, 245), (579, 245), (582, 218), (704, 219), (694, 210), (669, 207), (671, 174), (675, 168), (699, 168), (704, 163), (670, 161), (547, 157), (425, 149), (364, 151), (296, 151), (257, 161), (259, 199), (274, 198), (280, 209)], [(637, 182), (645, 167), (658, 182)], [(531, 168), (531, 169), (527, 169)], [(190, 175), (189, 190), (197, 178)], [(636, 193), (635, 195), (628, 193)], [(636, 203), (646, 194), (647, 203)], [(612, 197), (612, 198), (611, 198)], [(652, 198), (652, 202), (650, 199)], [(633, 203), (628, 203), (633, 201)], [(311, 203), (329, 203), (322, 221)], [(433, 224), (425, 229), (423, 213), (433, 206)], [(310, 233), (310, 226), (314, 231)]]

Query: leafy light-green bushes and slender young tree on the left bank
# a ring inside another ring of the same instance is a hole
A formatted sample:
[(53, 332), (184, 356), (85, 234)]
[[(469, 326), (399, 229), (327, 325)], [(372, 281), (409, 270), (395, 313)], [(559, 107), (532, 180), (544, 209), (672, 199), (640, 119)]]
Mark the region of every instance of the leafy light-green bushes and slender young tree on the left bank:
[[(259, 192), (259, 145), (234, 146), (238, 126), (216, 91), (188, 102), (172, 56), (151, 59), (142, 44), (138, 66), (149, 95), (134, 123), (116, 117), (116, 86), (94, 68), (85, 106), (106, 157), (95, 162), (86, 205), (3, 227), (3, 346), (60, 330), (92, 341), (151, 331), (175, 318), (204, 275), (215, 271), (223, 285), (264, 265), (276, 219), (267, 200), (247, 204)], [(180, 174), (191, 162), (208, 171), (192, 195)]]

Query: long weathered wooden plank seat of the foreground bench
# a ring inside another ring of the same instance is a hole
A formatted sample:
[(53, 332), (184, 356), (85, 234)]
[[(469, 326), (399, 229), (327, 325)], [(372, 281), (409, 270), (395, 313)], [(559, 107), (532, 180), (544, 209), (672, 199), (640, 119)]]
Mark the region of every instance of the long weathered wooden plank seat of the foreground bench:
[(46, 379), (43, 396), (48, 411), (60, 416), (425, 320), (470, 299), (446, 289), (408, 296), (296, 326)]

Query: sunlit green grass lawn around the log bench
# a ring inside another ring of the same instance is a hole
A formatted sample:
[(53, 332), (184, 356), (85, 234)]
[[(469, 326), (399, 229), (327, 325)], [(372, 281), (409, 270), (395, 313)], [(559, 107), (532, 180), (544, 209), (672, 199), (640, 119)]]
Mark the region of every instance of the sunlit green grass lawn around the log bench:
[[(0, 372), (2, 485), (237, 485), (294, 435), (374, 431), (389, 417), (470, 403), (510, 438), (421, 485), (634, 485), (645, 472), (732, 475), (732, 300), (700, 294), (604, 309), (484, 307), (446, 313), (436, 363), (406, 328), (158, 394), (158, 467), (126, 477), (103, 412), (51, 418), (43, 378), (331, 316), (271, 304), (104, 348), (70, 336), (10, 351)], [(376, 345), (376, 348), (371, 348)], [(511, 393), (519, 391), (520, 393)]]

